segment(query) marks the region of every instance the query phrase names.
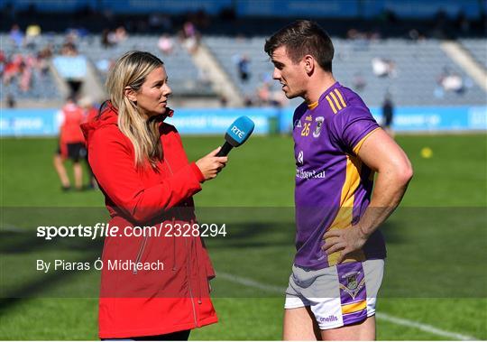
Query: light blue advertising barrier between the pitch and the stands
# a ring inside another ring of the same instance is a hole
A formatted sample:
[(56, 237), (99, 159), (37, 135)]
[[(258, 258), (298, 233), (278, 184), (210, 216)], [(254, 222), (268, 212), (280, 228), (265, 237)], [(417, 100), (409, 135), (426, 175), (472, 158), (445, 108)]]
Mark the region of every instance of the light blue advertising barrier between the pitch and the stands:
[[(0, 136), (53, 136), (59, 133), (59, 109), (7, 109), (0, 116)], [(168, 122), (181, 134), (225, 134), (238, 116), (255, 122), (253, 134), (289, 134), (293, 108), (181, 108)], [(381, 123), (381, 108), (372, 107)], [(397, 132), (427, 133), (487, 131), (487, 106), (398, 107), (394, 124)]]

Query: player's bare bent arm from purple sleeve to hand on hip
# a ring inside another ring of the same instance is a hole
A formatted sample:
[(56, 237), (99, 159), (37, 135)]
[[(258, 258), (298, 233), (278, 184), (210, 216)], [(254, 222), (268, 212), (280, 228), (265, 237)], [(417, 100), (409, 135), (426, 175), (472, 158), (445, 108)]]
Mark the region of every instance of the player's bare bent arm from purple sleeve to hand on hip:
[(369, 236), (391, 215), (400, 204), (408, 188), (413, 171), (408, 156), (383, 130), (375, 130), (358, 152), (363, 163), (377, 172), (372, 199), (360, 221), (347, 229), (326, 232), (327, 254), (341, 251), (338, 263), (345, 255), (362, 248)]

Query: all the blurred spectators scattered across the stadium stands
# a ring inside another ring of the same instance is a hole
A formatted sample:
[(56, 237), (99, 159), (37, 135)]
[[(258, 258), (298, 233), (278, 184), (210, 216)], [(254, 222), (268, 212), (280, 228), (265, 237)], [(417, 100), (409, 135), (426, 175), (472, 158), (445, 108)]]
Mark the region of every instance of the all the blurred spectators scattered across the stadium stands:
[[(30, 8), (29, 11), (27, 14), (30, 17), (35, 17), (35, 8)], [(12, 19), (15, 18), (16, 14), (8, 15)], [(150, 33), (159, 37), (157, 40), (157, 49), (161, 51), (163, 56), (173, 55), (180, 48), (192, 54), (198, 51), (202, 39), (202, 32), (206, 32), (208, 28), (211, 29), (215, 25), (234, 23), (236, 20), (235, 14), (231, 9), (225, 9), (216, 17), (209, 16), (204, 10), (198, 10), (181, 14), (178, 17), (152, 13), (143, 17), (128, 17), (124, 21), (110, 11), (96, 14), (89, 8), (80, 10), (77, 15), (79, 15), (80, 19), (72, 27), (66, 29), (64, 41), (61, 44), (54, 44), (49, 42), (49, 40), (47, 40), (49, 43), (45, 43), (46, 40), (40, 40), (41, 36), (46, 37), (51, 33), (43, 32), (39, 23), (30, 23), (24, 26), (24, 28), (14, 23), (11, 26), (8, 36), (10, 42), (14, 44), (16, 49), (8, 53), (0, 50), (0, 78), (3, 84), (5, 86), (14, 84), (21, 92), (29, 92), (32, 88), (33, 75), (36, 75), (37, 79), (42, 80), (42, 78), (49, 74), (50, 60), (54, 55), (78, 56), (80, 51), (78, 43), (80, 40), (85, 39), (85, 37), (88, 40), (99, 39), (101, 46), (109, 52), (126, 42), (131, 34)], [(484, 14), (482, 15), (482, 18), (484, 18)], [(102, 20), (106, 24), (103, 30), (97, 31), (99, 33), (96, 34), (99, 34), (99, 38), (93, 38), (94, 35), (88, 34), (88, 30), (82, 24), (79, 24), (88, 23), (90, 18)], [(374, 24), (369, 28), (364, 28), (363, 25), (348, 27), (343, 33), (343, 36), (348, 42), (351, 42), (353, 51), (367, 51), (371, 42), (387, 36), (388, 32), (384, 28), (394, 28), (400, 23), (401, 19), (391, 11), (386, 10), (379, 18), (376, 18)], [(415, 27), (411, 24), (407, 34), (403, 35), (403, 38), (411, 42), (421, 42), (426, 37), (446, 38), (450, 36), (452, 31), (468, 33), (478, 30), (479, 25), (482, 26), (482, 23), (482, 20), (473, 21), (468, 19), (462, 12), (458, 13), (457, 17), (452, 20), (444, 12), (439, 11), (432, 20), (430, 28), (425, 29), (424, 26)], [(253, 28), (258, 29), (258, 27)], [(242, 32), (244, 30), (245, 28), (242, 28)], [(236, 39), (239, 39), (238, 36)], [(116, 57), (114, 53), (106, 53), (92, 60), (102, 79), (106, 78), (106, 74), (112, 67)], [(345, 56), (342, 51), (336, 53), (337, 60), (346, 60), (347, 58), (349, 56)], [(246, 106), (288, 105), (287, 98), (282, 95), (280, 88), (276, 88), (276, 84), (271, 79), (271, 75), (254, 74), (253, 62), (255, 61), (248, 54), (236, 54), (232, 61), (238, 77), (237, 81), (241, 83), (243, 88), (253, 87), (244, 94), (244, 103)], [(391, 60), (387, 56), (376, 56), (370, 62), (372, 74), (375, 77), (394, 79), (400, 72), (396, 61)], [(368, 76), (368, 71), (361, 70), (354, 73), (353, 79), (351, 79), (351, 86), (358, 91), (367, 88), (367, 84), (370, 82), (370, 79), (367, 79), (370, 77)], [(198, 75), (195, 76), (195, 79), (198, 79), (200, 84), (211, 87), (207, 70), (199, 69)], [(251, 86), (253, 84), (255, 86)], [(74, 83), (69, 85), (74, 93), (77, 93), (81, 87), (79, 84)], [(445, 92), (463, 94), (470, 87), (470, 80), (463, 79), (461, 75), (446, 70), (442, 75), (438, 76), (436, 85), (436, 97), (442, 97)], [(7, 106), (15, 106), (16, 101), (14, 97), (15, 94), (11, 92), (5, 93)], [(221, 98), (222, 106), (225, 106), (227, 102), (225, 97)]]

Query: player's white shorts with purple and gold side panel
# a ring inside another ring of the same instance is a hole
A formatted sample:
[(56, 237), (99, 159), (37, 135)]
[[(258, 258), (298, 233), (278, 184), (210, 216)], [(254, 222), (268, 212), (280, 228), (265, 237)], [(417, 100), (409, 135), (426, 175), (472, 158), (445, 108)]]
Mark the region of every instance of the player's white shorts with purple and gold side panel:
[(293, 265), (284, 309), (310, 307), (322, 330), (360, 322), (375, 314), (383, 273), (383, 259), (317, 271)]

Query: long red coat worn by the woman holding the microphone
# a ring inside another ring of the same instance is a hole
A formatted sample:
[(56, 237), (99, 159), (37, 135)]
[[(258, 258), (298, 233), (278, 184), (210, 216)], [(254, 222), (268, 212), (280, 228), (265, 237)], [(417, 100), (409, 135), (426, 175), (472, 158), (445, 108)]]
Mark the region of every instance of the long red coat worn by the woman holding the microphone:
[[(201, 189), (203, 175), (188, 162), (172, 125), (160, 125), (163, 161), (157, 170), (134, 166), (133, 144), (118, 129), (117, 112), (110, 104), (82, 129), (89, 163), (112, 217), (110, 226), (195, 222), (192, 196)], [(160, 335), (217, 321), (208, 286), (215, 273), (200, 237), (109, 236), (102, 260), (100, 338)], [(115, 260), (159, 261), (163, 270), (108, 269), (108, 262)]]

